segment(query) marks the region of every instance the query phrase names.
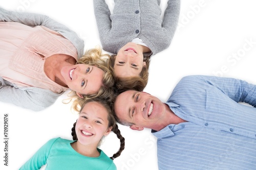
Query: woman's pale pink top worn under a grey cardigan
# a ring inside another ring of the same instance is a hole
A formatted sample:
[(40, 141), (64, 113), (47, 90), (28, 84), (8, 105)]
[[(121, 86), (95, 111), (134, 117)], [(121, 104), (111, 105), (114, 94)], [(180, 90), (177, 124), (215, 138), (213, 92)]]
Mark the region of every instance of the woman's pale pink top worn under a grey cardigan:
[(77, 61), (75, 46), (59, 33), (43, 26), (0, 21), (0, 76), (5, 80), (18, 87), (66, 91), (68, 88), (52, 81), (44, 71), (45, 59), (54, 54), (69, 55)]

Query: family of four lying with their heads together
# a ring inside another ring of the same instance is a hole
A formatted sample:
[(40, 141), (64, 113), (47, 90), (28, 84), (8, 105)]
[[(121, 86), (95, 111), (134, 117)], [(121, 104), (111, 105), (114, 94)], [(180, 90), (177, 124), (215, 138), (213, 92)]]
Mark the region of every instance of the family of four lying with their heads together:
[[(179, 0), (168, 0), (163, 19), (159, 5), (119, 0), (111, 14), (94, 0), (102, 48), (85, 54), (83, 40), (50, 17), (0, 8), (0, 102), (40, 111), (70, 89), (79, 112), (73, 140), (50, 139), (20, 169), (117, 169), (113, 159), (124, 150), (118, 124), (152, 129), (159, 169), (256, 166), (256, 85), (186, 76), (165, 103), (143, 92), (150, 58), (168, 48), (179, 18)], [(120, 149), (109, 157), (99, 145), (111, 131)]]

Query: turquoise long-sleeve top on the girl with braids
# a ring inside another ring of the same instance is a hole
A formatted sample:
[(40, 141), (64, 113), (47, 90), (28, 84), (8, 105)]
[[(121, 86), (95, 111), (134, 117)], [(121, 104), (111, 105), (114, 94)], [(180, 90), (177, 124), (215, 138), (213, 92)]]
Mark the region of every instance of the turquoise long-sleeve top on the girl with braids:
[(116, 170), (113, 160), (102, 150), (98, 149), (98, 157), (83, 156), (71, 147), (72, 142), (60, 137), (50, 139), (19, 170), (40, 169), (45, 164), (46, 170)]

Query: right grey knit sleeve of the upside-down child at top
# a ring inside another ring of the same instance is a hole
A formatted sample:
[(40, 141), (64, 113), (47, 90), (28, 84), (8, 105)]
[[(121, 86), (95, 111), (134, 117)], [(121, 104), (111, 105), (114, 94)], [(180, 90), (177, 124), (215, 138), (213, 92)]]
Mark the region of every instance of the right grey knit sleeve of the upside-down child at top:
[(162, 27), (167, 30), (168, 36), (173, 38), (180, 16), (180, 0), (169, 0), (164, 11)]

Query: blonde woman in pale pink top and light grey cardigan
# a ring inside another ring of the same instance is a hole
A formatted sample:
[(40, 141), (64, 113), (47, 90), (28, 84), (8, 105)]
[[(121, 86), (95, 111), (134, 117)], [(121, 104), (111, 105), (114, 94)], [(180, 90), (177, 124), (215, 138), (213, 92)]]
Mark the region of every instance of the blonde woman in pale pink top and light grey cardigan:
[(69, 88), (79, 98), (108, 91), (115, 80), (105, 55), (95, 48), (82, 57), (83, 47), (75, 32), (45, 15), (0, 8), (0, 101), (38, 111)]

